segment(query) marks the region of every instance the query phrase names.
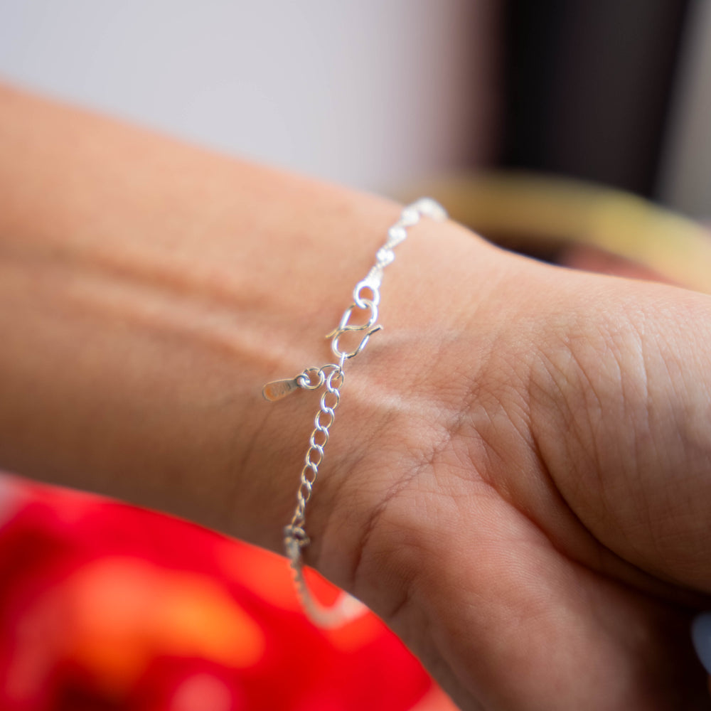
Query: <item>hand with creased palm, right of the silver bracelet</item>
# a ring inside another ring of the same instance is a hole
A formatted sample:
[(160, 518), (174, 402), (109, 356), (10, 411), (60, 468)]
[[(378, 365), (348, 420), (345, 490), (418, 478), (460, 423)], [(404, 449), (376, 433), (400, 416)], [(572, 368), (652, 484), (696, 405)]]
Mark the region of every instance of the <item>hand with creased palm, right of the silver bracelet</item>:
[(711, 299), (424, 229), (348, 374), (314, 560), (464, 709), (709, 707)]

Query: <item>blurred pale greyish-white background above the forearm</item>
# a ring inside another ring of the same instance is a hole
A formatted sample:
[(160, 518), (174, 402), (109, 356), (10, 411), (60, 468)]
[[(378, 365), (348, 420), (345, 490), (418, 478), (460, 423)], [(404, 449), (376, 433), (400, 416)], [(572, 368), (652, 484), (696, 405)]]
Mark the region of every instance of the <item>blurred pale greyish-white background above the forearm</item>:
[(232, 154), (387, 190), (485, 158), (493, 5), (0, 0), (0, 76)]

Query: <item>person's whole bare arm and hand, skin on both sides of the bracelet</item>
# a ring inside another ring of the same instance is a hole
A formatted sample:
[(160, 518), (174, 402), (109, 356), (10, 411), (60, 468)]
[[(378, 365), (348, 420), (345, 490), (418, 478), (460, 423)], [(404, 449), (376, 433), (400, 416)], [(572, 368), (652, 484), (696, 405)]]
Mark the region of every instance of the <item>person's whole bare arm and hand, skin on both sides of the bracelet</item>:
[[(333, 359), (399, 210), (0, 89), (0, 466), (280, 551), (318, 398), (262, 385)], [(709, 297), (396, 253), (307, 562), (463, 709), (709, 707)]]

